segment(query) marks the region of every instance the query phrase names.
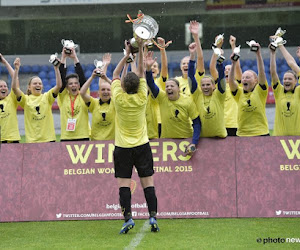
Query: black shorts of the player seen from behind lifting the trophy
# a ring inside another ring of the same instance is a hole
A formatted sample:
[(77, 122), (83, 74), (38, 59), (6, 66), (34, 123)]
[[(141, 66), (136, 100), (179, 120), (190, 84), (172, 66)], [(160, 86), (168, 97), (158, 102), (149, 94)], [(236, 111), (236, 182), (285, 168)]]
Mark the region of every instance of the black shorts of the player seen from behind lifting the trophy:
[(149, 142), (133, 148), (116, 146), (114, 166), (116, 178), (131, 178), (133, 166), (135, 166), (139, 177), (152, 176), (154, 174), (153, 157)]

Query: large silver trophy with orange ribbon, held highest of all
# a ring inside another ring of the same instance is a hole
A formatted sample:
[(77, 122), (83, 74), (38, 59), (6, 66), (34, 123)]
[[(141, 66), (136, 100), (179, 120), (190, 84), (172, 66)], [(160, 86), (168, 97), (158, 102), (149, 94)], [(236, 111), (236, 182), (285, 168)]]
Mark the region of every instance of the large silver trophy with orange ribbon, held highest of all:
[(139, 51), (136, 38), (139, 37), (151, 44), (158, 33), (158, 24), (151, 16), (144, 15), (142, 11), (138, 12), (136, 19), (132, 19), (129, 15), (127, 17), (129, 20), (126, 22), (133, 24), (133, 38), (129, 39), (128, 43), (130, 44), (131, 54), (134, 54)]

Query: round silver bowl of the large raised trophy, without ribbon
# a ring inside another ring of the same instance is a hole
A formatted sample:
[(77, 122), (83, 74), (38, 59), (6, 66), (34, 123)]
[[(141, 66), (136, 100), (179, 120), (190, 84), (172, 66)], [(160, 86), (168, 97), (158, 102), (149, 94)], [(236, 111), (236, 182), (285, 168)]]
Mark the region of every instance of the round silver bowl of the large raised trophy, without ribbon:
[(158, 24), (151, 16), (144, 15), (141, 20), (134, 21), (133, 32), (144, 40), (152, 39), (158, 33)]

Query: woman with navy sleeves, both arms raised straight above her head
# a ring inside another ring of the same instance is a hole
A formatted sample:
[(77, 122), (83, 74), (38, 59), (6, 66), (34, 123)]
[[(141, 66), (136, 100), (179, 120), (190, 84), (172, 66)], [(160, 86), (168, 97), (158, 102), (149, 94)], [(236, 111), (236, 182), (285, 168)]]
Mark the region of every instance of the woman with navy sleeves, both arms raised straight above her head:
[(200, 114), (201, 137), (225, 138), (227, 131), (224, 124), (224, 102), (226, 96), (224, 66), (223, 63), (218, 64), (219, 80), (217, 90), (213, 78), (207, 75), (201, 79), (201, 89), (199, 89), (194, 75), (196, 47), (200, 41), (198, 37), (195, 38), (196, 41), (198, 40), (197, 43), (192, 43), (189, 46), (190, 62), (188, 75), (192, 82), (192, 98)]

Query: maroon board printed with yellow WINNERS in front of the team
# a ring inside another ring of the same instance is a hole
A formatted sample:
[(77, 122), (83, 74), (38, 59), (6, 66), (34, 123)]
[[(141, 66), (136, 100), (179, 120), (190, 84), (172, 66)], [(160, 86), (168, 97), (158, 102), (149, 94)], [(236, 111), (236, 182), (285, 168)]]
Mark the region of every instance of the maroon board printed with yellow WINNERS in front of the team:
[[(151, 141), (158, 218), (300, 217), (299, 137)], [(113, 141), (0, 145), (0, 221), (122, 219)], [(132, 214), (148, 218), (137, 173)]]

